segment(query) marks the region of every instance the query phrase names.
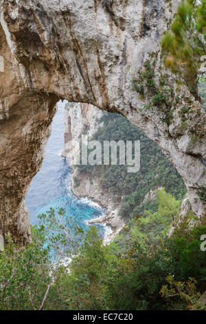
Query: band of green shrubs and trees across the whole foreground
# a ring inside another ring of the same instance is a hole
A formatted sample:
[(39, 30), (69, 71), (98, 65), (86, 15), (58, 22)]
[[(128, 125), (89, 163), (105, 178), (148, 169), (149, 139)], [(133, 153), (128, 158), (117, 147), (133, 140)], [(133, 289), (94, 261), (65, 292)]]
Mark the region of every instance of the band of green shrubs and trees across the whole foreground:
[[(62, 210), (60, 215), (72, 222)], [(206, 223), (190, 229), (196, 221), (191, 213), (170, 238), (165, 228), (172, 212), (165, 215), (160, 207), (159, 214), (139, 216), (124, 254), (115, 243), (102, 245), (95, 227), (78, 247), (80, 228), (67, 236), (54, 210), (42, 219), (30, 245), (8, 243), (0, 254), (0, 310), (204, 309), (198, 298), (206, 289), (206, 252), (200, 249)], [(59, 262), (62, 250), (73, 254), (69, 272)]]

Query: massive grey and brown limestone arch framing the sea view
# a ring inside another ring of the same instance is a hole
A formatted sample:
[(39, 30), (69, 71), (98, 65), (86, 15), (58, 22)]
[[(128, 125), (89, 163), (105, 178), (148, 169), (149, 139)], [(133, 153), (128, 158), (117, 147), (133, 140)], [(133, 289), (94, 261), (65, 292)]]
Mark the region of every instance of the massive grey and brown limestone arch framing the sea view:
[[(41, 168), (60, 99), (119, 112), (137, 125), (175, 165), (193, 212), (203, 217), (198, 190), (206, 183), (205, 112), (179, 77), (164, 71), (159, 48), (177, 3), (0, 0), (0, 234), (30, 241), (24, 199)], [(149, 91), (143, 98), (133, 90), (148, 60), (155, 82), (168, 73), (168, 89), (179, 97), (179, 103), (172, 99), (170, 123), (158, 105), (145, 109)], [(183, 125), (180, 111), (188, 100)]]

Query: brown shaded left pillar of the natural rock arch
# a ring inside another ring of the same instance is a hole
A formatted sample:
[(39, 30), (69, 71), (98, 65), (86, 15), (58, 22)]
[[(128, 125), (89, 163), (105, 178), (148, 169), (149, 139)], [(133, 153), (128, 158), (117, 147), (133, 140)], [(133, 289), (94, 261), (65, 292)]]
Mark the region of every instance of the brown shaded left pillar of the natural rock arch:
[(0, 234), (30, 241), (30, 221), (24, 199), (41, 168), (50, 124), (56, 112), (55, 94), (31, 92), (0, 26), (3, 72), (0, 72)]

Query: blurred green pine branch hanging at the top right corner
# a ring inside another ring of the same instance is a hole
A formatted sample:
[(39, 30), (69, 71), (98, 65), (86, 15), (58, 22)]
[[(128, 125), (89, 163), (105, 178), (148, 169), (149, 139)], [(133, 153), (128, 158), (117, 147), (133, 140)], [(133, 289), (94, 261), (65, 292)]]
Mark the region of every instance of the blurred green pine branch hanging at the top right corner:
[(162, 42), (165, 65), (193, 87), (206, 55), (206, 1), (182, 0)]

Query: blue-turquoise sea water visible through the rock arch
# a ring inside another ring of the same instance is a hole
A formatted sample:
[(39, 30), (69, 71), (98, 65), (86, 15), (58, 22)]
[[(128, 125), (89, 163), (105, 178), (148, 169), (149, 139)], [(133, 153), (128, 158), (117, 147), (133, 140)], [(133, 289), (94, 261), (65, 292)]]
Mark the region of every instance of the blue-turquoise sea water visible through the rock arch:
[[(71, 192), (71, 168), (67, 160), (60, 156), (64, 145), (64, 109), (65, 103), (58, 103), (58, 112), (52, 123), (52, 135), (45, 151), (45, 160), (41, 170), (34, 176), (30, 191), (25, 200), (32, 225), (38, 223), (38, 214), (50, 207), (62, 207), (68, 216), (73, 216), (78, 225), (87, 229), (87, 221), (102, 215), (105, 211), (89, 199), (79, 199)], [(98, 226), (100, 236), (107, 230)]]

